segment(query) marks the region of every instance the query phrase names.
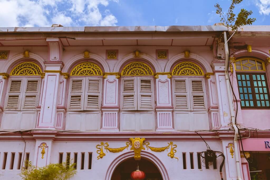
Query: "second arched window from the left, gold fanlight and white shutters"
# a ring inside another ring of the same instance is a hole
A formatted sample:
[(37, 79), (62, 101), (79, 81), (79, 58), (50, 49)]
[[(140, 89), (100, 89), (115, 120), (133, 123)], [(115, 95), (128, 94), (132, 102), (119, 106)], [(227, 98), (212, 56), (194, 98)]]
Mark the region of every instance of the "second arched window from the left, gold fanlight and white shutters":
[(100, 110), (102, 69), (95, 63), (83, 62), (70, 72), (68, 110)]

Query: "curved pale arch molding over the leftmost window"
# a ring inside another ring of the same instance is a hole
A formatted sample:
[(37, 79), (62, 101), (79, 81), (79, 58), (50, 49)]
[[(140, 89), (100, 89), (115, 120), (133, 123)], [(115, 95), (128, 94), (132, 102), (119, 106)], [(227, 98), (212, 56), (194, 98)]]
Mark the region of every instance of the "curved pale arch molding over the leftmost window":
[[(18, 60), (20, 60), (20, 59), (22, 59), (22, 58), (25, 58), (25, 57), (23, 56), (23, 53), (20, 53), (20, 54), (17, 54), (17, 55), (15, 55), (15, 56), (12, 56), (9, 60), (7, 60), (7, 61), (5, 62), (5, 64), (4, 64), (3, 67), (1, 68), (1, 71), (0, 71), (0, 72), (1, 72), (1, 73), (8, 73), (7, 71), (9, 70), (9, 68), (10, 68), (13, 64), (17, 63)], [(35, 59), (36, 61), (38, 61), (39, 64), (42, 66), (43, 71), (46, 69), (45, 64), (44, 64), (45, 60), (44, 60), (41, 56), (29, 52), (29, 58), (30, 58), (30, 59)]]

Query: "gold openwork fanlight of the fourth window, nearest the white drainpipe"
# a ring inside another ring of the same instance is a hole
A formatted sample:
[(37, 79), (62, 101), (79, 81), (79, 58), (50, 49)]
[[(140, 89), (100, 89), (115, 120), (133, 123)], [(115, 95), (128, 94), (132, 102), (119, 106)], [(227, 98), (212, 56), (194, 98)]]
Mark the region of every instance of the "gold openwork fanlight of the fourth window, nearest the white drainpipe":
[(193, 62), (181, 62), (173, 68), (173, 76), (203, 76), (203, 70)]

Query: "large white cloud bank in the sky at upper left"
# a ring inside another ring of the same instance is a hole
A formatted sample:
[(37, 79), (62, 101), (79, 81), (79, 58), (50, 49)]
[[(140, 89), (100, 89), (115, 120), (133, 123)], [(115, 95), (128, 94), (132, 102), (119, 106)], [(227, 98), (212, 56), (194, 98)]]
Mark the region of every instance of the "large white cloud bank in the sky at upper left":
[[(0, 0), (0, 26), (116, 26), (107, 7), (118, 0)], [(3, 8), (4, 7), (4, 8)]]

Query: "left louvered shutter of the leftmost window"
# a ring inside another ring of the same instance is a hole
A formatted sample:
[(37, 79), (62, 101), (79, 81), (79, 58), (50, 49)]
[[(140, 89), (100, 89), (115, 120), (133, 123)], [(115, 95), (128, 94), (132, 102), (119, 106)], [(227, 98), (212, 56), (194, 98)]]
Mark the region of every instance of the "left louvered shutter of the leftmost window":
[(12, 110), (21, 110), (21, 98), (23, 94), (24, 79), (10, 78), (7, 96), (5, 100), (5, 108)]

